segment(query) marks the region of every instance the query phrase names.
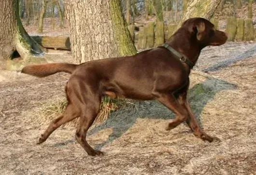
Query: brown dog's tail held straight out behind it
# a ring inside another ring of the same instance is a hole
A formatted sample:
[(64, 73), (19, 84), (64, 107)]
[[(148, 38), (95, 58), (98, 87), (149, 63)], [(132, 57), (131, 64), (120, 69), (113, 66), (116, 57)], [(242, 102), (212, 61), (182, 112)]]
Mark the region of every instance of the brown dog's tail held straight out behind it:
[(69, 74), (72, 74), (77, 66), (78, 64), (69, 63), (34, 64), (25, 66), (21, 72), (37, 77), (44, 77), (53, 75), (57, 72), (67, 72)]

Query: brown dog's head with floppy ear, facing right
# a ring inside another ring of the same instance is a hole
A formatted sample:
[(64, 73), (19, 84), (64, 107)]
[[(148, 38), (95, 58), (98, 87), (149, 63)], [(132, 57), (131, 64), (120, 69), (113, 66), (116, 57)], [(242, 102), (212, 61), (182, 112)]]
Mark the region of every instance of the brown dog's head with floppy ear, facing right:
[(201, 46), (219, 46), (224, 44), (228, 36), (225, 32), (216, 30), (214, 25), (204, 18), (190, 18), (182, 25), (186, 28), (191, 37), (197, 40)]

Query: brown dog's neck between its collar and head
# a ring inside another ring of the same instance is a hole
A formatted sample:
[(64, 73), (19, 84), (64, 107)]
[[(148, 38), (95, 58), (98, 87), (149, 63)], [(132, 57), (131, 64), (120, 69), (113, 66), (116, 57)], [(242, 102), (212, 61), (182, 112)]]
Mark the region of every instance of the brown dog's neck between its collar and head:
[(179, 28), (166, 43), (176, 51), (185, 55), (195, 65), (203, 47), (194, 40), (196, 40), (196, 38), (191, 38), (191, 34), (186, 29)]

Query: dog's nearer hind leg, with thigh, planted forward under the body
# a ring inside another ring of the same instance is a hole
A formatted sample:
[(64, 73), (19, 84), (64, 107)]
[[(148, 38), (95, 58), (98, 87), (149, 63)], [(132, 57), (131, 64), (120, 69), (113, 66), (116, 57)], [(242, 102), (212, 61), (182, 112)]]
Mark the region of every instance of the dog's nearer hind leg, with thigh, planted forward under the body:
[(94, 150), (86, 141), (86, 134), (100, 110), (102, 94), (99, 90), (99, 82), (94, 74), (86, 74), (86, 77), (71, 76), (67, 83), (67, 95), (81, 111), (80, 125), (76, 130), (76, 140), (88, 155), (102, 155), (99, 150)]

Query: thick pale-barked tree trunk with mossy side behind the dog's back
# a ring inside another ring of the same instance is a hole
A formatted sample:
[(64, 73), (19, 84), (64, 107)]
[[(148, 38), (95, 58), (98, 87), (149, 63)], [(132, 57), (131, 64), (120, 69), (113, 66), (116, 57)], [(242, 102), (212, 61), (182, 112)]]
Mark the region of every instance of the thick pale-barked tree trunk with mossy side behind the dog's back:
[(136, 53), (119, 0), (65, 0), (76, 63)]

